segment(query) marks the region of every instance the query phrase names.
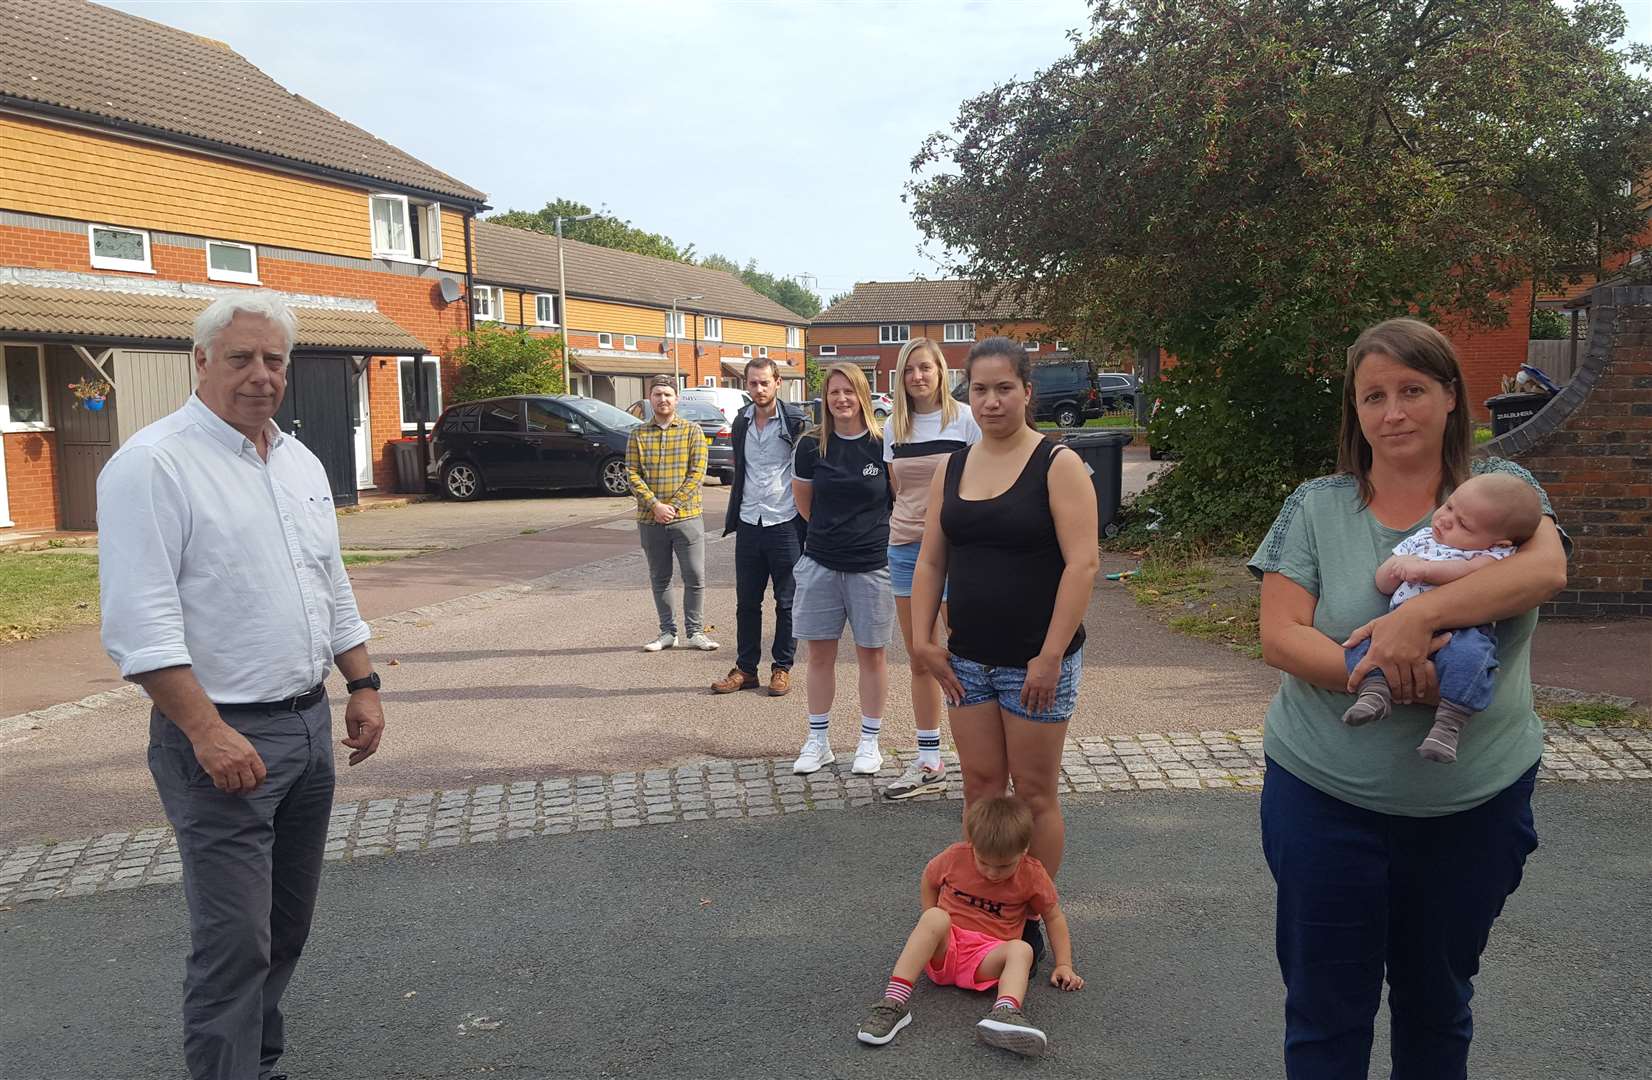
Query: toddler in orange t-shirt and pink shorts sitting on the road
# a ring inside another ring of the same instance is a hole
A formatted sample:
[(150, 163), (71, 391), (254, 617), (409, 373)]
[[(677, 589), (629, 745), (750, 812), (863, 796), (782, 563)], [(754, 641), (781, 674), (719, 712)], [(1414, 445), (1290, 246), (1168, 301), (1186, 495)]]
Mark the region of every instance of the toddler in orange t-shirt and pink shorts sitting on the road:
[(1028, 1022), (1023, 1001), (1032, 974), (1032, 946), (1021, 940), (1031, 915), (1042, 915), (1056, 950), (1049, 981), (1066, 991), (1084, 986), (1072, 969), (1072, 938), (1044, 864), (1028, 854), (1032, 811), (1009, 796), (981, 799), (965, 814), (963, 844), (923, 867), (923, 915), (900, 950), (884, 999), (861, 1024), (859, 1040), (881, 1047), (912, 1022), (909, 1001), (922, 969), (937, 986), (988, 991), (993, 1011), (975, 1026), (981, 1042), (1016, 1054), (1044, 1052), (1044, 1032)]

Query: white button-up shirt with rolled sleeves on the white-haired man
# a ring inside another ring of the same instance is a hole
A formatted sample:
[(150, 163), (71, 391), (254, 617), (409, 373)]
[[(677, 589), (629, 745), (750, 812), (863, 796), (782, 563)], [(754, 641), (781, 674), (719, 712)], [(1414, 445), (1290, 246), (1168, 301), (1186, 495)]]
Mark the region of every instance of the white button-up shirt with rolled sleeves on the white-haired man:
[(97, 477), (104, 649), (131, 679), (190, 666), (216, 703), (309, 690), (368, 639), (320, 461), (269, 426), (269, 461), (190, 395)]

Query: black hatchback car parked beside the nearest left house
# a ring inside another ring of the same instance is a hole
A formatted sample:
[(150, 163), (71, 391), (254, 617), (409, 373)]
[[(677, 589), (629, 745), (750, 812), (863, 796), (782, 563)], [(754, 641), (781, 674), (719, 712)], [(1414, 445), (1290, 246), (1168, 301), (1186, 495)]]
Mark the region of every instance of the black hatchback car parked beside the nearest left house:
[(459, 500), (522, 487), (624, 495), (624, 444), (636, 426), (624, 410), (575, 395), (453, 405), (436, 419), (430, 479)]

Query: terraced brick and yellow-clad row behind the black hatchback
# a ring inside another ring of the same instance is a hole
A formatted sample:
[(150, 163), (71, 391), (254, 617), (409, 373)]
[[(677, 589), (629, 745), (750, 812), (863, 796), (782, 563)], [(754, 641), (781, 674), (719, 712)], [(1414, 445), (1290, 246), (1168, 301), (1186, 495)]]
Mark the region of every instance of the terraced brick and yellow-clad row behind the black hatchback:
[[(803, 337), (809, 325), (803, 315), (733, 274), (705, 266), (577, 239), (562, 241), (562, 256), (573, 393), (624, 408), (644, 396), (649, 375), (677, 373), (684, 386), (743, 386), (745, 363), (768, 357), (780, 365), (781, 396), (803, 400)], [(477, 221), (471, 304), (477, 322), (558, 332), (557, 238)]]

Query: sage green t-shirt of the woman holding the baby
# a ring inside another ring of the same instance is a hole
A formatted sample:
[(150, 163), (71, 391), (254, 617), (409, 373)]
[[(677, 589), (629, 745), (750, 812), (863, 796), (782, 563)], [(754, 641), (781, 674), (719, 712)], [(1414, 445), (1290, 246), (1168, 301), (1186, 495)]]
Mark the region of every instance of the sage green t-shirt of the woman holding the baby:
[[(1531, 474), (1503, 459), (1479, 459), (1474, 472), (1510, 472), (1538, 489), (1543, 512), (1548, 495)], [(1429, 523), (1388, 528), (1360, 505), (1351, 476), (1322, 476), (1298, 487), (1280, 509), (1251, 571), (1282, 573), (1313, 593), (1313, 629), (1343, 642), (1360, 626), (1388, 614), (1378, 591), (1376, 568), (1396, 543)], [(1320, 791), (1383, 814), (1437, 817), (1485, 803), (1515, 783), (1543, 756), (1543, 722), (1531, 708), (1531, 609), (1497, 624), (1493, 695), (1485, 712), (1462, 730), (1455, 765), (1417, 755), (1417, 743), (1434, 723), (1426, 705), (1394, 705), (1379, 723), (1348, 727), (1348, 694), (1322, 690), (1295, 675), (1280, 679), (1267, 707), (1262, 750), (1297, 778)]]

